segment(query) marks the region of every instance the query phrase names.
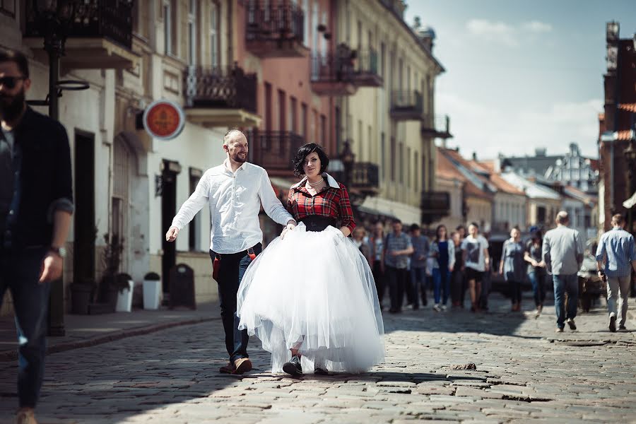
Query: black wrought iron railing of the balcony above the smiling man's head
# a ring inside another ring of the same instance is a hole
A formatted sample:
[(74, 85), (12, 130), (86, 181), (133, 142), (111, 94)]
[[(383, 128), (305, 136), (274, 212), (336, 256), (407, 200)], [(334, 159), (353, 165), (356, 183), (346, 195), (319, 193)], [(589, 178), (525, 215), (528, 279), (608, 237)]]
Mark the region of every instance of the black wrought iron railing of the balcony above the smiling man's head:
[(184, 72), (188, 107), (245, 109), (257, 112), (257, 75), (240, 67), (191, 66)]

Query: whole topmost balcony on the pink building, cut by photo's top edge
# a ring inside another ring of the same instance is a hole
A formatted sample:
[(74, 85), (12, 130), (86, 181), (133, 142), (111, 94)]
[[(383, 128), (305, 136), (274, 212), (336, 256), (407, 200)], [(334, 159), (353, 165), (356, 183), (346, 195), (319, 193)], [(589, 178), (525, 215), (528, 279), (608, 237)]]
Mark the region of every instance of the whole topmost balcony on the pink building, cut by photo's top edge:
[(291, 2), (247, 1), (247, 50), (258, 57), (304, 57), (305, 13)]

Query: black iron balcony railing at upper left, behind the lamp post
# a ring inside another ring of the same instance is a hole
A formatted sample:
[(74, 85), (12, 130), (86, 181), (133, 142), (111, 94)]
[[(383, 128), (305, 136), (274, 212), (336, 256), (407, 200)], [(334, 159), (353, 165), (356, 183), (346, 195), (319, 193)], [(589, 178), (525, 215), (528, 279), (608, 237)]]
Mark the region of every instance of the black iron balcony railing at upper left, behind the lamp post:
[[(25, 1), (25, 37), (42, 37), (33, 1)], [(132, 46), (132, 0), (70, 0), (76, 17), (66, 37), (107, 38), (128, 49)]]

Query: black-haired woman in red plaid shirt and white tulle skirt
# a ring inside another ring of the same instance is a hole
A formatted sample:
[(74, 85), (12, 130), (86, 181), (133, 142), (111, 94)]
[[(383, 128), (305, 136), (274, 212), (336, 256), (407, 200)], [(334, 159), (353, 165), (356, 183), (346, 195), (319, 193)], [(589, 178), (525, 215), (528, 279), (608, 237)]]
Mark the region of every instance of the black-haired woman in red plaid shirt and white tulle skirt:
[[(238, 291), (239, 328), (271, 353), (272, 372), (364, 372), (384, 361), (371, 269), (348, 238), (356, 228), (349, 195), (328, 164), (316, 143), (300, 147), (293, 165), (302, 179), (288, 195), (298, 227), (268, 245)], [(299, 255), (309, 272), (281, 273)]]

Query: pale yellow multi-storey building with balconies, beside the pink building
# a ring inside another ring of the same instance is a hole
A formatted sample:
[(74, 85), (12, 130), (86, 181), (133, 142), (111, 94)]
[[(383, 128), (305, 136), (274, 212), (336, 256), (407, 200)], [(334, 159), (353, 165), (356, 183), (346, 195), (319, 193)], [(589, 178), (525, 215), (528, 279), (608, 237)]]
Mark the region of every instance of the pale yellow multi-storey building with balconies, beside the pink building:
[(348, 141), (355, 154), (351, 189), (368, 189), (370, 181), (355, 176), (377, 169), (360, 211), (420, 223), (422, 193), (435, 187), (434, 139), (448, 136), (446, 119), (435, 127), (435, 78), (444, 71), (431, 52), (435, 34), (409, 27), (401, 0), (336, 7), (336, 45), (355, 51), (354, 87), (336, 101), (336, 143), (341, 150)]

